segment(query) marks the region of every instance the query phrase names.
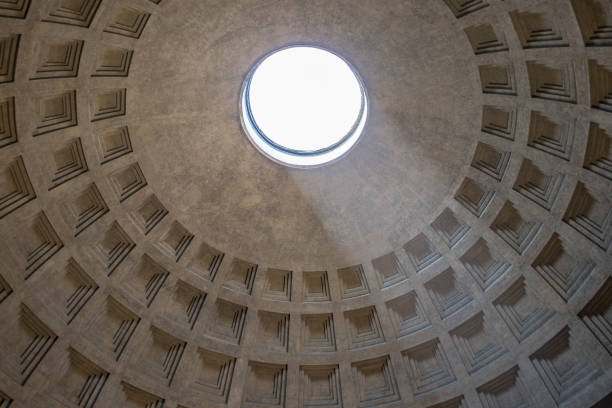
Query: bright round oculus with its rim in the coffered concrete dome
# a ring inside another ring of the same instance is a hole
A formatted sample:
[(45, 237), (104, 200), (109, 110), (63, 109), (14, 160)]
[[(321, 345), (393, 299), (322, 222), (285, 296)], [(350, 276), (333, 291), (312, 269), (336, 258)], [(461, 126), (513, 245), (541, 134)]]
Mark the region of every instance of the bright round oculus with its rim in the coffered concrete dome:
[(271, 159), (316, 167), (355, 145), (367, 117), (363, 84), (351, 65), (330, 51), (290, 46), (264, 56), (241, 95), (242, 123)]

